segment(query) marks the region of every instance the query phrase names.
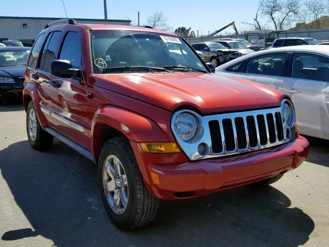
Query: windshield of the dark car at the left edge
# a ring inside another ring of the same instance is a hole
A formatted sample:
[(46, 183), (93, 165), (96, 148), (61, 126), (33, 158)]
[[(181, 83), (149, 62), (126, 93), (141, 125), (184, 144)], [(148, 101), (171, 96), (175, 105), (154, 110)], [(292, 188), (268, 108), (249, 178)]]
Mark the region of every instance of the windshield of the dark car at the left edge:
[(30, 50), (0, 51), (0, 66), (26, 65)]

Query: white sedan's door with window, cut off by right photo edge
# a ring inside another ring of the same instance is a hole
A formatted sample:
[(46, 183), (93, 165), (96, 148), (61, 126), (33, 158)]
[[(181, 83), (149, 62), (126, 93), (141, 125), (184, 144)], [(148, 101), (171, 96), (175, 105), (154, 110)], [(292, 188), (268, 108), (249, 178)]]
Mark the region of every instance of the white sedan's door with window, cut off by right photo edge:
[(301, 133), (329, 138), (329, 58), (296, 53), (283, 91), (295, 104)]

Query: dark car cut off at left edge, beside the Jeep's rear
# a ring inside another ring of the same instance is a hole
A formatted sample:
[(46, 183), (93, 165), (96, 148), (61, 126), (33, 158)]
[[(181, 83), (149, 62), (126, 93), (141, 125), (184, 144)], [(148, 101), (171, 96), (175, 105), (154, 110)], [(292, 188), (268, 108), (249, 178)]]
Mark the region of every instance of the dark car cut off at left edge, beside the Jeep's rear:
[(30, 47), (0, 47), (0, 99), (22, 98)]

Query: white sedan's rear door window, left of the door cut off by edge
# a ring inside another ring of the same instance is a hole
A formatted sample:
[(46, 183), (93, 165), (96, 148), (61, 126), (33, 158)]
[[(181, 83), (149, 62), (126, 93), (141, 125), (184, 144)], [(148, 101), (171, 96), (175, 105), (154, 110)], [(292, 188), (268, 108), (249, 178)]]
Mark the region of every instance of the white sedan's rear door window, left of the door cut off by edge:
[(268, 76), (282, 76), (286, 54), (270, 54), (251, 59), (246, 67), (246, 73)]

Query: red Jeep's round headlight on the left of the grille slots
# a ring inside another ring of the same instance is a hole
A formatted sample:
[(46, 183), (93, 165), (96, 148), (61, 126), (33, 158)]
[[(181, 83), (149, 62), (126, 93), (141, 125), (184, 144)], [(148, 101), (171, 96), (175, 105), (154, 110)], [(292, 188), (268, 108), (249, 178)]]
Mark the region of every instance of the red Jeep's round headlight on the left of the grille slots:
[(192, 139), (197, 133), (199, 123), (190, 113), (183, 112), (176, 116), (174, 121), (175, 133), (185, 142)]

